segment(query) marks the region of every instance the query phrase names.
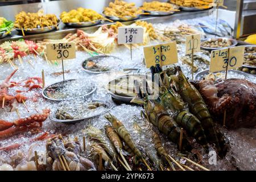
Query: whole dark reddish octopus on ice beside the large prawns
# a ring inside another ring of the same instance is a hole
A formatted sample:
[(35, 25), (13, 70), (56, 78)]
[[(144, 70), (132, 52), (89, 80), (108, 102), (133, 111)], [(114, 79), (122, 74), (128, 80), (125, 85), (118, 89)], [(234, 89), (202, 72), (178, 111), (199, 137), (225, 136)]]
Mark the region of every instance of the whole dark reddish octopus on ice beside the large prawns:
[(256, 126), (256, 84), (253, 82), (229, 78), (226, 80), (201, 80), (195, 83), (218, 122), (228, 129)]

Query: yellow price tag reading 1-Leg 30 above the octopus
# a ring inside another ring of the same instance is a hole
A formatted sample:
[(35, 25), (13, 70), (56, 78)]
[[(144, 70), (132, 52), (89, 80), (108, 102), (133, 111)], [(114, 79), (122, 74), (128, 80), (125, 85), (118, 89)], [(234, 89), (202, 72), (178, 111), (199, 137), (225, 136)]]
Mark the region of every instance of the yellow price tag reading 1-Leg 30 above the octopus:
[(210, 72), (239, 68), (243, 64), (244, 46), (212, 51), (210, 56)]

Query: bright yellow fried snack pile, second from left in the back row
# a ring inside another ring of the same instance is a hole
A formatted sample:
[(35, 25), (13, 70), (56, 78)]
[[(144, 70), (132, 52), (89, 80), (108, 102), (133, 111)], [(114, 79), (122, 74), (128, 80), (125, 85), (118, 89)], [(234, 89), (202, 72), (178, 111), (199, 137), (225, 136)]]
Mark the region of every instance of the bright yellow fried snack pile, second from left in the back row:
[(71, 10), (68, 13), (63, 11), (63, 13), (60, 14), (60, 19), (64, 23), (79, 23), (94, 22), (96, 20), (104, 19), (104, 17), (94, 10), (79, 7), (77, 10)]

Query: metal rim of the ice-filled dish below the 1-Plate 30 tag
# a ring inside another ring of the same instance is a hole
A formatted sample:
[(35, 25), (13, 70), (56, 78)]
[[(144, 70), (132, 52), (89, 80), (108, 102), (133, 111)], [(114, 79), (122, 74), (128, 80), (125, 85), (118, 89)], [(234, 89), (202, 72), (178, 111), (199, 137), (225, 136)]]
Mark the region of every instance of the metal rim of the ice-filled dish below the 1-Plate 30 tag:
[[(61, 84), (61, 83), (65, 83), (65, 82), (70, 82), (70, 81), (75, 81), (76, 79), (71, 79), (71, 80), (65, 80), (65, 81), (58, 81), (58, 82), (55, 82), (54, 84), (51, 84), (51, 85), (48, 85), (46, 88), (43, 89), (42, 91), (42, 95), (44, 98), (48, 99), (48, 100), (51, 100), (51, 101), (65, 101), (65, 100), (72, 100), (73, 98), (70, 98), (70, 99), (67, 99), (67, 98), (63, 98), (63, 99), (57, 99), (57, 98), (52, 98), (52, 97), (49, 97), (48, 94), (47, 94), (47, 91), (48, 90), (52, 90), (52, 89), (58, 89), (60, 88), (60, 86), (57, 86), (58, 84)], [(56, 86), (55, 86), (56, 85)], [(90, 94), (92, 94), (93, 92), (95, 92), (97, 89), (97, 87), (95, 85), (93, 85), (93, 88), (92, 90), (90, 90), (90, 92), (84, 94), (82, 97), (86, 97), (86, 96), (89, 96)]]

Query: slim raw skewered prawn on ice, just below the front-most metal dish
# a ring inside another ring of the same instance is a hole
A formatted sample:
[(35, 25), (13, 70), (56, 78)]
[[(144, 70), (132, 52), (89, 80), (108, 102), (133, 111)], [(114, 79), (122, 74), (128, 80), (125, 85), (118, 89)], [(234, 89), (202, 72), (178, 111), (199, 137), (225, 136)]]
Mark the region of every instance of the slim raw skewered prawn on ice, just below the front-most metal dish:
[(133, 150), (134, 154), (135, 154), (135, 164), (138, 164), (138, 160), (142, 160), (142, 162), (147, 166), (147, 168), (152, 171), (152, 169), (148, 166), (148, 164), (146, 163), (146, 160), (143, 158), (143, 155), (141, 153), (141, 151), (139, 151), (139, 149), (137, 148), (137, 146), (135, 145), (133, 139), (131, 138), (131, 135), (129, 134), (129, 132), (126, 130), (125, 126), (123, 126), (123, 123), (121, 121), (119, 121), (117, 118), (115, 118), (113, 115), (111, 114), (107, 114), (105, 115), (105, 118), (108, 119), (108, 121), (110, 123), (112, 123), (112, 126), (115, 130), (117, 130), (117, 133), (119, 134), (119, 136), (125, 140), (125, 142), (128, 144), (128, 146), (131, 148), (131, 150)]

